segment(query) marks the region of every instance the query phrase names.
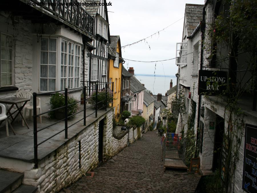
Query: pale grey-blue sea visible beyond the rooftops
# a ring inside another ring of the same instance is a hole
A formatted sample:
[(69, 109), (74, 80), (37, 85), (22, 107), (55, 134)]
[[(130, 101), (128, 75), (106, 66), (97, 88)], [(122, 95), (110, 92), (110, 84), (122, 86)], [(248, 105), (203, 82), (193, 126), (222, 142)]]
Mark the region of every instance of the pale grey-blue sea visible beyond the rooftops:
[(177, 78), (172, 75), (164, 77), (163, 75), (141, 75), (137, 74), (135, 77), (144, 84), (146, 89), (152, 91), (154, 95), (161, 93), (165, 95), (168, 89), (170, 89), (170, 80), (172, 79), (173, 86), (177, 83)]

